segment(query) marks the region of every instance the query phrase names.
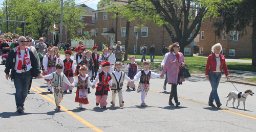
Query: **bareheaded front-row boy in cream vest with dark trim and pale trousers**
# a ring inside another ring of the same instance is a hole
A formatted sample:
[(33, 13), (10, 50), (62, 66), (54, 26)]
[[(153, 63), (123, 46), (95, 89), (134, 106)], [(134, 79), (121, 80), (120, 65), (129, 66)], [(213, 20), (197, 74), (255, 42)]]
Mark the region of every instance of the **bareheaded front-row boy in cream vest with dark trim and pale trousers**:
[(129, 81), (131, 83), (134, 83), (130, 77), (125, 75), (124, 72), (121, 71), (122, 68), (122, 62), (116, 62), (115, 64), (116, 70), (111, 74), (112, 76), (112, 106), (115, 106), (116, 104), (116, 94), (118, 93), (119, 97), (119, 106), (123, 107), (123, 95), (122, 95), (122, 87), (123, 87), (123, 81), (124, 79), (126, 81)]

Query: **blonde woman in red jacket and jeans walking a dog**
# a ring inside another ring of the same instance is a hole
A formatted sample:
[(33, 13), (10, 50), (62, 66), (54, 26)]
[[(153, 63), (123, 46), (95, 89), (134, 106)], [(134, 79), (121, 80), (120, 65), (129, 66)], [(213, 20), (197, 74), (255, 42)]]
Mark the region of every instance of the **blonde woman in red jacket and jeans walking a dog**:
[(207, 80), (210, 81), (210, 85), (212, 89), (210, 92), (208, 104), (210, 106), (214, 106), (213, 103), (215, 100), (218, 108), (221, 107), (221, 102), (218, 96), (217, 89), (219, 86), (219, 82), (221, 80), (222, 67), (224, 69), (227, 80), (230, 79), (225, 57), (220, 54), (221, 50), (222, 50), (222, 46), (220, 43), (217, 43), (211, 47), (211, 51), (214, 53), (209, 55), (207, 59), (206, 68), (205, 68), (205, 76)]

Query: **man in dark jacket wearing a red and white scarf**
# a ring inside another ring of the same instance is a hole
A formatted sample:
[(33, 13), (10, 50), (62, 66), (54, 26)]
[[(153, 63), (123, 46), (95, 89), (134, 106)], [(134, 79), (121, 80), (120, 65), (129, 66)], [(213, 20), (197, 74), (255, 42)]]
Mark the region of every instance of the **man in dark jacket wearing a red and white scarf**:
[[(24, 111), (24, 102), (28, 95), (30, 76), (40, 77), (37, 59), (31, 49), (26, 47), (27, 39), (20, 36), (18, 46), (13, 48), (7, 57), (5, 65), (6, 79), (13, 80), (16, 89), (15, 101), (18, 113)], [(16, 58), (18, 56), (18, 58)], [(24, 62), (25, 61), (25, 62)], [(11, 71), (11, 75), (10, 73)]]

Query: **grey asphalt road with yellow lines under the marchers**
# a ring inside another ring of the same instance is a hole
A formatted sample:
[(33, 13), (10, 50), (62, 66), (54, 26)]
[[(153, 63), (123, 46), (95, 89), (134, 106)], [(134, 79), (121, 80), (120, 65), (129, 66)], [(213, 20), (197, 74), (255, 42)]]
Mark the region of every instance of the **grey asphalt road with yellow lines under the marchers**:
[[(124, 67), (124, 66), (123, 66)], [(151, 78), (151, 90), (147, 93), (145, 107), (140, 107), (140, 93), (123, 88), (124, 107), (111, 107), (111, 92), (107, 109), (95, 105), (95, 89), (89, 94), (89, 104), (74, 102), (75, 91), (66, 93), (61, 101), (61, 112), (54, 111), (53, 94), (47, 92), (44, 79), (35, 79), (30, 94), (25, 101), (23, 114), (16, 112), (15, 88), (7, 81), (5, 66), (0, 65), (0, 131), (255, 131), (256, 95), (248, 96), (246, 109), (241, 102), (239, 109), (232, 108), (229, 101), (230, 91), (236, 90), (230, 83), (219, 85), (221, 108), (209, 107), (210, 83), (205, 78), (190, 77), (178, 86), (181, 105), (168, 105), (170, 85), (163, 91), (164, 79)], [(124, 68), (123, 68), (124, 69)], [(125, 70), (124, 70), (125, 71)], [(160, 73), (160, 71), (156, 71)], [(138, 85), (138, 82), (135, 83)], [(255, 87), (234, 84), (240, 91)], [(126, 86), (126, 81), (124, 86)], [(118, 101), (118, 97), (116, 97)], [(237, 101), (234, 103), (237, 105)]]

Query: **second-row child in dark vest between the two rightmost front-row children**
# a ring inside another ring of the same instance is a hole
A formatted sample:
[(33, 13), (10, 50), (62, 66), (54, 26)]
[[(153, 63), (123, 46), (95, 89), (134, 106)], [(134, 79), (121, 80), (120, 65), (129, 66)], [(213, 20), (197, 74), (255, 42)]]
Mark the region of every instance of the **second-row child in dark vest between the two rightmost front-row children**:
[[(128, 69), (128, 76), (131, 78), (131, 80), (133, 80), (134, 76), (139, 72), (138, 71), (138, 64), (135, 63), (135, 56), (130, 56), (129, 60), (131, 61), (131, 63), (124, 63), (125, 69)], [(131, 87), (131, 89), (133, 89), (133, 91), (135, 91), (135, 84), (131, 84), (130, 82), (127, 83), (127, 89), (129, 90)]]

